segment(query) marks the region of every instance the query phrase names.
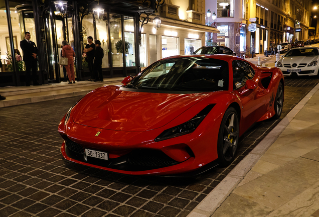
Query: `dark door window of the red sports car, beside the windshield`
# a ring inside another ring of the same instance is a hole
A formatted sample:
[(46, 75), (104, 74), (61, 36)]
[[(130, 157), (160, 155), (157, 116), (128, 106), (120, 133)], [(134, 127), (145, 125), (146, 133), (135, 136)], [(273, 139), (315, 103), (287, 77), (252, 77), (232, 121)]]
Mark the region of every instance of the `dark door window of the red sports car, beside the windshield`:
[(253, 68), (246, 62), (241, 60), (233, 61), (233, 81), (234, 89), (240, 88), (245, 85), (248, 79), (254, 76)]

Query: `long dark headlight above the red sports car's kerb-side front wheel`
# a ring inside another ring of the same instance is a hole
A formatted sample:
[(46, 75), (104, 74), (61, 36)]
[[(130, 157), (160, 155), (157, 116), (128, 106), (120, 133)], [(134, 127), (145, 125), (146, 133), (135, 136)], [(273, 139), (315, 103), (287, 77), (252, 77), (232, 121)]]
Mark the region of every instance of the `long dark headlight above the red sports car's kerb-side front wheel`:
[(174, 137), (182, 136), (185, 134), (189, 134), (195, 131), (195, 129), (201, 124), (201, 122), (204, 120), (204, 118), (208, 115), (208, 113), (212, 110), (215, 104), (207, 105), (200, 113), (198, 113), (194, 118), (191, 120), (178, 125), (176, 127), (167, 129), (163, 131), (163, 133), (159, 134), (156, 139), (154, 139), (155, 142), (159, 142), (162, 140), (171, 139)]

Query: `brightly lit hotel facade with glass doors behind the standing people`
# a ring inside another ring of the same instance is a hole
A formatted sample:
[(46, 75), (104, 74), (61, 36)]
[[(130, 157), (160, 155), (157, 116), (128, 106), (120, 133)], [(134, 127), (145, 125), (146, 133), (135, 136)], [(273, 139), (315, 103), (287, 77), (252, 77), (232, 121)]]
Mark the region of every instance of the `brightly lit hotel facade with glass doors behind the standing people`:
[[(63, 40), (76, 53), (74, 71), (80, 81), (90, 77), (83, 53), (88, 36), (93, 42), (101, 41), (104, 77), (116, 77), (135, 75), (167, 56), (191, 54), (205, 45), (205, 32), (218, 32), (205, 26), (205, 0), (62, 2), (67, 4), (65, 14), (54, 1), (0, 0), (0, 58), (4, 65), (0, 86), (25, 85), (24, 63), (18, 53), (23, 56), (20, 41), (26, 31), (39, 49), (38, 77), (44, 84), (63, 79), (63, 69), (57, 64)], [(96, 8), (104, 11), (94, 15)], [(157, 30), (152, 22), (155, 17), (162, 20)]]

